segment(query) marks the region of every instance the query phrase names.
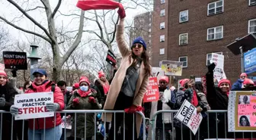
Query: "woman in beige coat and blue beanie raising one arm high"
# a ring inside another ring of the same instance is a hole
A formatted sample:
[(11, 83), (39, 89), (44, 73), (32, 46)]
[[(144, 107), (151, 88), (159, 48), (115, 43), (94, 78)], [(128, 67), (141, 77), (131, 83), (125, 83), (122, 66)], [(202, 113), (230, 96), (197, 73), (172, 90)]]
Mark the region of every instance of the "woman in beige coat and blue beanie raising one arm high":
[[(125, 110), (124, 129), (126, 140), (137, 139), (139, 128), (142, 123), (142, 117), (135, 114), (133, 129), (133, 114), (136, 110), (142, 110), (141, 104), (146, 87), (149, 82), (151, 67), (149, 65), (149, 56), (146, 53), (146, 42), (138, 37), (133, 41), (130, 47), (124, 40), (124, 17), (126, 17), (123, 5), (120, 4), (118, 10), (120, 16), (119, 25), (117, 25), (117, 45), (122, 54), (120, 68), (117, 70), (114, 79), (110, 85), (110, 90), (104, 105), (105, 110)], [(117, 137), (118, 128), (123, 125), (123, 114), (116, 114), (114, 124), (114, 115), (106, 114), (107, 122), (112, 121), (109, 139), (114, 140)], [(102, 115), (104, 119), (104, 114)], [(115, 125), (115, 127), (114, 127)], [(114, 130), (114, 128), (116, 128)], [(134, 131), (134, 137), (133, 137)], [(123, 131), (121, 131), (123, 133)]]

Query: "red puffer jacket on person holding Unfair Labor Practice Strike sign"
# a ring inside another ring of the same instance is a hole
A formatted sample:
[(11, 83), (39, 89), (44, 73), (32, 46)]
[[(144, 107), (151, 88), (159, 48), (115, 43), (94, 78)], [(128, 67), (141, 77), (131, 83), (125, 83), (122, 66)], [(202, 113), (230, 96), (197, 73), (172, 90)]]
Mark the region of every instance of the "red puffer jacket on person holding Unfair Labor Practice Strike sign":
[[(51, 81), (47, 81), (43, 83), (43, 85), (36, 86), (33, 82), (30, 86), (30, 89), (28, 89), (25, 94), (30, 94), (34, 92), (51, 92), (52, 91), (52, 83)], [(55, 86), (55, 91), (53, 92), (53, 101), (55, 103), (59, 104), (60, 110), (64, 109), (64, 97), (59, 89), (58, 86)], [(55, 117), (46, 117), (46, 126), (45, 129), (50, 129), (54, 127), (54, 119)], [(56, 114), (56, 126), (59, 126), (62, 123), (60, 114)], [(38, 118), (38, 119), (30, 119), (28, 120), (28, 125), (30, 129), (34, 129), (34, 122), (35, 122), (35, 129), (44, 129), (44, 119)]]

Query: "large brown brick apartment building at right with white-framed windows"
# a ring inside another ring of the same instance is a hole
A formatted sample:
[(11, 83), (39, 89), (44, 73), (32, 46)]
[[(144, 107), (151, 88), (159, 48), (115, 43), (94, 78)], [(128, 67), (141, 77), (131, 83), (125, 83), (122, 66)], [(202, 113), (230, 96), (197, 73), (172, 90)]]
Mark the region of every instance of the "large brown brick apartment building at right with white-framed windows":
[(256, 33), (256, 0), (155, 0), (152, 26), (152, 65), (184, 61), (182, 76), (200, 77), (210, 53), (224, 55), (224, 70), (235, 82), (240, 56), (226, 47), (238, 37)]

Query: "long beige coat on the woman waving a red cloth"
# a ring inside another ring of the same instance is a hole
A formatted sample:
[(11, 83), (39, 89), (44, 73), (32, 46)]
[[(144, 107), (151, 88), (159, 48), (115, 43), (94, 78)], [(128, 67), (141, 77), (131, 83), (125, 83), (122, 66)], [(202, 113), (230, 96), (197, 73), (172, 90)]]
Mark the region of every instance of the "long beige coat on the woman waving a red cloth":
[[(106, 102), (104, 104), (104, 110), (113, 110), (114, 105), (117, 101), (117, 96), (119, 95), (121, 86), (123, 84), (123, 79), (126, 76), (126, 70), (133, 63), (133, 58), (131, 57), (131, 50), (129, 45), (126, 44), (123, 37), (123, 25), (117, 25), (117, 45), (122, 54), (122, 61), (120, 64), (117, 73), (114, 76), (113, 81), (110, 85), (110, 90), (107, 95)], [(142, 99), (144, 94), (146, 93), (146, 87), (148, 86), (149, 76), (146, 76), (146, 71), (144, 70), (144, 64), (142, 62), (140, 71), (139, 71), (139, 79), (136, 84), (136, 92), (133, 99), (133, 104), (139, 106), (142, 104)], [(107, 122), (110, 122), (112, 119), (112, 114), (107, 114)], [(104, 118), (102, 118), (104, 119)], [(139, 130), (142, 123), (142, 117), (139, 114), (136, 114), (136, 130), (139, 137)]]

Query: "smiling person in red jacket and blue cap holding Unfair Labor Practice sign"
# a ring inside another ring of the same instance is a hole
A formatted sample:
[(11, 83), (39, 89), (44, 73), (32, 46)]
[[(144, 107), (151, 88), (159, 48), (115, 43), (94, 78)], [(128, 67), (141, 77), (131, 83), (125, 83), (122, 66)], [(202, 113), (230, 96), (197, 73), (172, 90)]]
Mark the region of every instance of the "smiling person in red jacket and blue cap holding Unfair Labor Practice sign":
[[(34, 82), (25, 94), (33, 94), (37, 92), (53, 92), (54, 103), (47, 103), (47, 111), (60, 111), (64, 109), (64, 98), (58, 86), (47, 79), (45, 70), (37, 69), (33, 73)], [(11, 114), (18, 114), (18, 107), (11, 106)], [(62, 135), (62, 118), (60, 114), (55, 114), (53, 117), (37, 118), (28, 120), (28, 139), (33, 140), (52, 140), (53, 138), (59, 139)], [(35, 127), (34, 127), (35, 126)], [(44, 135), (45, 132), (45, 135)]]

